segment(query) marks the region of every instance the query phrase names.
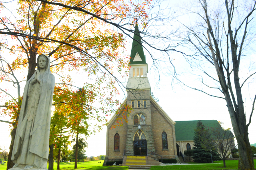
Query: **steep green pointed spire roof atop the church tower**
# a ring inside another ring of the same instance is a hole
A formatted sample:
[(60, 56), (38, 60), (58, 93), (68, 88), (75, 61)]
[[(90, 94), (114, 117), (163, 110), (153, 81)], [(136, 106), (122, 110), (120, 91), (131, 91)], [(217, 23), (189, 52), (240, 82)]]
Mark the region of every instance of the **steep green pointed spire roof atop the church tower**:
[[(140, 55), (140, 58), (142, 61), (133, 61), (133, 59), (137, 53)], [(146, 64), (146, 58), (144, 55), (140, 32), (139, 32), (139, 28), (138, 28), (137, 24), (135, 25), (135, 29), (134, 29), (134, 36), (133, 36), (133, 41), (132, 41), (132, 50), (131, 50), (130, 57), (131, 57), (130, 65), (131, 64)]]

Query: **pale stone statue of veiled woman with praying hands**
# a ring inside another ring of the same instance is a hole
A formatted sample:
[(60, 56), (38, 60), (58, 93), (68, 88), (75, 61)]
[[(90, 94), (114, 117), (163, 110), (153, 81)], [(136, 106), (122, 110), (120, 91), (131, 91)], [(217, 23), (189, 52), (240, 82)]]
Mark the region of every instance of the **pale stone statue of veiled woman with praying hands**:
[(26, 82), (11, 160), (12, 170), (46, 169), (52, 95), (55, 78), (46, 55), (37, 58), (37, 70)]

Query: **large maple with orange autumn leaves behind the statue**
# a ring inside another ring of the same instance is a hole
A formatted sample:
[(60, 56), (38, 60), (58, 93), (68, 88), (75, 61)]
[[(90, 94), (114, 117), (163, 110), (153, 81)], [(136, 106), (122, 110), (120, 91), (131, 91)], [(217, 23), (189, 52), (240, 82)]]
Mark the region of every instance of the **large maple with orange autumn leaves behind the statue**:
[[(2, 38), (0, 46), (1, 49), (5, 52), (9, 51), (12, 55), (8, 58), (0, 56), (0, 82), (1, 84), (9, 83), (6, 89), (0, 89), (1, 101), (4, 103), (0, 106), (1, 115), (8, 116), (11, 120), (0, 121), (9, 123), (12, 127), (10, 155), (22, 103), (22, 86), (24, 86), (24, 80), (28, 80), (34, 74), (38, 54), (44, 53), (50, 57), (51, 71), (58, 76), (62, 85), (65, 86), (64, 88), (68, 89), (67, 92), (74, 88), (72, 86), (74, 82), (70, 78), (71, 71), (82, 69), (88, 76), (91, 76), (94, 79), (93, 84), (86, 82), (84, 84), (86, 93), (90, 93), (86, 96), (89, 100), (92, 100), (91, 96), (95, 96), (94, 100), (106, 106), (98, 108), (97, 111), (109, 115), (115, 112), (113, 107), (120, 104), (113, 100), (114, 96), (118, 94), (115, 83), (119, 82), (114, 76), (114, 72), (118, 74), (122, 72), (122, 69), (128, 68), (128, 57), (124, 57), (122, 53), (122, 49), (124, 49), (123, 34), (108, 29), (109, 21), (127, 19), (126, 23), (134, 25), (140, 19), (145, 25), (147, 20), (145, 9), (148, 8), (150, 1), (144, 0), (136, 4), (132, 1), (124, 3), (118, 0), (67, 1), (67, 3), (82, 7), (90, 13), (85, 15), (80, 11), (59, 8), (36, 0), (19, 0), (17, 13), (12, 14), (13, 20), (6, 16), (0, 17)], [(0, 10), (1, 12), (7, 11), (2, 2)], [(99, 20), (98, 16), (104, 20)], [(5, 41), (7, 39), (11, 39), (12, 44)], [(20, 76), (19, 72), (26, 72), (27, 76), (22, 74)], [(123, 76), (126, 75), (127, 70)], [(15, 88), (17, 94), (13, 93)], [(54, 95), (59, 94), (60, 92), (54, 91)], [(62, 105), (66, 110), (70, 109), (69, 107), (73, 108), (73, 105), (67, 104), (70, 102), (69, 100), (64, 101), (58, 96), (54, 98), (55, 104)], [(76, 103), (70, 102), (70, 104)], [(104, 116), (99, 115), (99, 112), (92, 114), (92, 117), (99, 121), (106, 121)], [(73, 118), (72, 121), (75, 122), (78, 117), (74, 114)], [(11, 156), (9, 156), (10, 158)], [(12, 161), (8, 160), (7, 169), (12, 166)]]

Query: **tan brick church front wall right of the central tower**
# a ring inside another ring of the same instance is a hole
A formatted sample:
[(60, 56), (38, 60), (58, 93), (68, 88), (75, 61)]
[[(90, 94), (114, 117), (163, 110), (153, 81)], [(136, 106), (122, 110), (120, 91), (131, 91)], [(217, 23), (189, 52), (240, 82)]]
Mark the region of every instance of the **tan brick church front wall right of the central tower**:
[[(163, 158), (175, 158), (176, 145), (174, 125), (170, 124), (164, 116), (151, 103), (152, 131), (154, 136), (154, 144), (156, 153), (162, 155)], [(167, 134), (168, 149), (162, 149), (162, 133)]]

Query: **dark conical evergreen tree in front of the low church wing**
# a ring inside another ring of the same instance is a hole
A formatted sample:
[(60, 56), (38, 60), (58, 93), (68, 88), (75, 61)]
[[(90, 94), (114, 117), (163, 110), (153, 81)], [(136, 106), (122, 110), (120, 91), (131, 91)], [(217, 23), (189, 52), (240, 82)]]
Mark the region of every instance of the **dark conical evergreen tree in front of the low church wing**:
[[(212, 160), (219, 160), (220, 157), (218, 156), (218, 153), (214, 150), (214, 148), (204, 149), (202, 147), (202, 136), (207, 135), (207, 130), (205, 126), (203, 125), (202, 121), (198, 121), (195, 129), (195, 135), (194, 135), (194, 146), (193, 147), (193, 155), (192, 158), (194, 159), (194, 162), (197, 163), (211, 163)], [(212, 158), (211, 158), (211, 152), (212, 150)]]

